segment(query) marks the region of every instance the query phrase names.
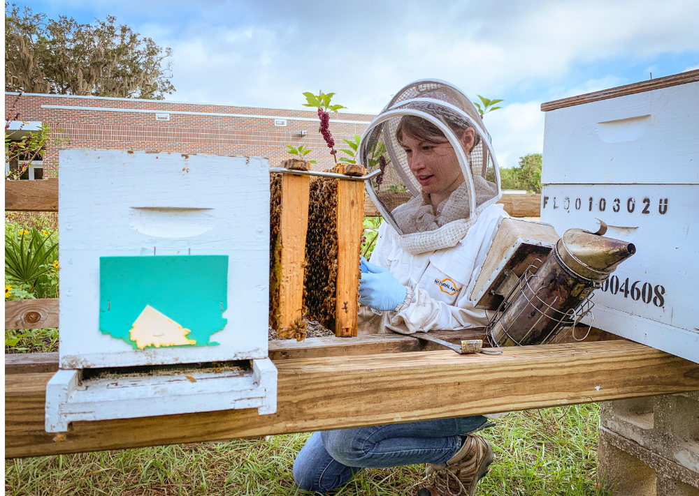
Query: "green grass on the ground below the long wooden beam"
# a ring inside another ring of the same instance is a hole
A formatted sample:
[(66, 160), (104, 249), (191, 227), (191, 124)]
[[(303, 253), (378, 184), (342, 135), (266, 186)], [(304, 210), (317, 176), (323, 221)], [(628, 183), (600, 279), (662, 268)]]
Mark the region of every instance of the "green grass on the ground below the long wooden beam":
[[(598, 406), (510, 414), (486, 431), (496, 460), (481, 496), (603, 496)], [(308, 434), (43, 456), (5, 463), (6, 495), (309, 495), (291, 467)], [(424, 465), (368, 469), (334, 495), (414, 494)]]

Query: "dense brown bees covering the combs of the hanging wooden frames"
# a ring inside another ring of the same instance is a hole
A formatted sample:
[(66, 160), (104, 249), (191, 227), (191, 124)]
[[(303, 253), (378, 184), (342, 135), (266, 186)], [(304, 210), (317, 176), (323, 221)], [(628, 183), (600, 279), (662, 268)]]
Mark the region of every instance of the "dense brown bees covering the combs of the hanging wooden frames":
[[(329, 172), (343, 172), (341, 165)], [(279, 329), (280, 254), (279, 239), (282, 174), (270, 177), (270, 257), (269, 257), (269, 324)], [(308, 206), (308, 232), (305, 244), (305, 274), (303, 278), (303, 313), (326, 329), (335, 328), (336, 284), (338, 280), (337, 232), (338, 180), (312, 176)], [(291, 327), (294, 329), (291, 329)], [(294, 322), (278, 335), (289, 338), (305, 336), (303, 322)], [(303, 338), (301, 338), (303, 339)]]

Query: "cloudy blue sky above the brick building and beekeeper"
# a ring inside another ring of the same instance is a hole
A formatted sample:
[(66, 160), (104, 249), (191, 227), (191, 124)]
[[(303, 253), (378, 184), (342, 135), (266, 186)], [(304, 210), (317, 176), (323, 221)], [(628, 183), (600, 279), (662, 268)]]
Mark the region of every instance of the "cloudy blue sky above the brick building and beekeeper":
[(696, 0), (17, 3), (171, 46), (171, 100), (298, 109), (322, 89), (376, 113), (423, 77), (503, 98), (485, 123), (504, 167), (542, 150), (542, 102), (699, 68)]

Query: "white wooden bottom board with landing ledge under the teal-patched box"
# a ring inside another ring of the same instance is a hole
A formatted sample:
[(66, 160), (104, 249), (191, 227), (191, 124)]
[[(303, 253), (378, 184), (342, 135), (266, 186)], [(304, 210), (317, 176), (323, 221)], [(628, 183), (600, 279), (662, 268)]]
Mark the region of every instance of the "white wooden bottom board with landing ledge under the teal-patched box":
[(72, 421), (257, 408), (277, 410), (277, 369), (270, 359), (251, 369), (215, 368), (160, 375), (109, 375), (78, 381), (79, 370), (59, 370), (47, 385), (46, 430), (66, 432)]

